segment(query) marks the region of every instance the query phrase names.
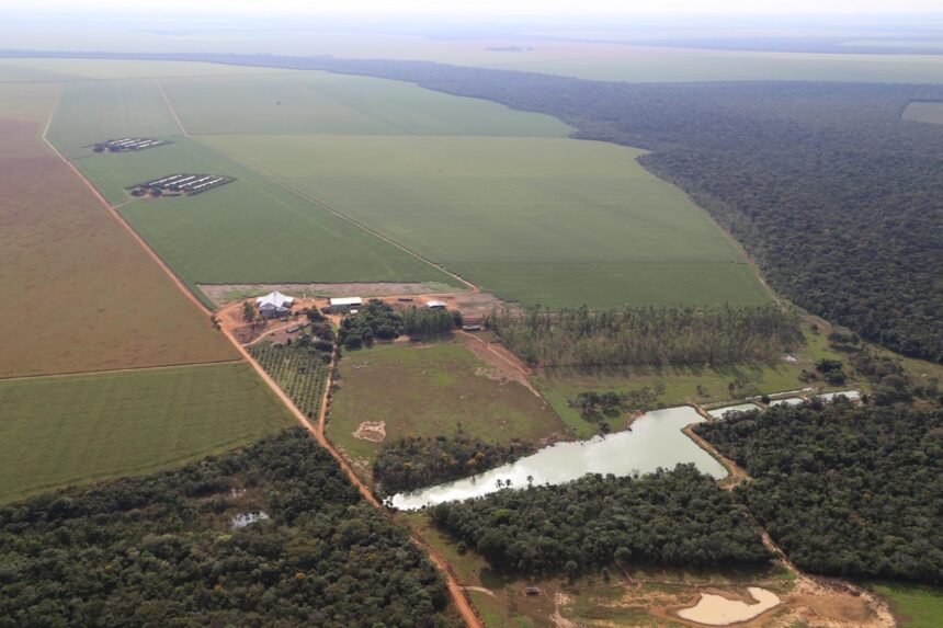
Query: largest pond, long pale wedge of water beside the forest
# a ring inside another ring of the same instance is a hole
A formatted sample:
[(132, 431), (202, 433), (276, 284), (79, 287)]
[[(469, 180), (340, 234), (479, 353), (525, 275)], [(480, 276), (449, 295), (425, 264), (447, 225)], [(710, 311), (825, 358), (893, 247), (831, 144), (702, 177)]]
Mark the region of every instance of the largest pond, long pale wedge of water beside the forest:
[(659, 467), (674, 468), (679, 463), (694, 463), (704, 473), (725, 478), (727, 470), (683, 432), (704, 418), (693, 408), (669, 408), (641, 415), (632, 430), (597, 436), (591, 441), (557, 443), (536, 454), (486, 471), (474, 478), (446, 482), (411, 493), (398, 493), (390, 504), (400, 510), (416, 510), (455, 500), (487, 495), (500, 490), (498, 480), (511, 488), (523, 489), (527, 477), (533, 483), (563, 484), (587, 473), (630, 476), (649, 473)]

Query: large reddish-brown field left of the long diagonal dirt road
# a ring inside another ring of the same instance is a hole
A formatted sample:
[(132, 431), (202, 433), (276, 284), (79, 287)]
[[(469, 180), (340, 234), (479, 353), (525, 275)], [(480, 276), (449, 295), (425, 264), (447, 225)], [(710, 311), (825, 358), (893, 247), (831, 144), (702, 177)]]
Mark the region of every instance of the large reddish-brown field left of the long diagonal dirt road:
[(56, 93), (32, 96), (0, 90), (0, 378), (238, 358), (43, 142)]

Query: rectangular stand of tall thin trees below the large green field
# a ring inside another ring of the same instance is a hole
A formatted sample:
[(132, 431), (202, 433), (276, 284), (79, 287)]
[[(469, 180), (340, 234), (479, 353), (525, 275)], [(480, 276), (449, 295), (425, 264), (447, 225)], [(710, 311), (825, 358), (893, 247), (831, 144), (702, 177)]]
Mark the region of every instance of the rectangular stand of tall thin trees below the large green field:
[(559, 312), (534, 307), (523, 315), (495, 311), (485, 323), (511, 351), (541, 366), (770, 361), (803, 342), (796, 317), (775, 305)]

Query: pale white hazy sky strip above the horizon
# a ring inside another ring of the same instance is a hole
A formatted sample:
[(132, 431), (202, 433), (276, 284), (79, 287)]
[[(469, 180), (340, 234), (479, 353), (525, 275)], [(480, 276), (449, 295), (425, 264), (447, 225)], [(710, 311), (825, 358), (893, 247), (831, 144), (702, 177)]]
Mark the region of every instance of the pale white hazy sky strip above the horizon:
[[(24, 7), (25, 4), (25, 7)], [(861, 14), (940, 13), (941, 0), (0, 0), (15, 13), (367, 13), (367, 14), (550, 14), (550, 13), (739, 13)]]

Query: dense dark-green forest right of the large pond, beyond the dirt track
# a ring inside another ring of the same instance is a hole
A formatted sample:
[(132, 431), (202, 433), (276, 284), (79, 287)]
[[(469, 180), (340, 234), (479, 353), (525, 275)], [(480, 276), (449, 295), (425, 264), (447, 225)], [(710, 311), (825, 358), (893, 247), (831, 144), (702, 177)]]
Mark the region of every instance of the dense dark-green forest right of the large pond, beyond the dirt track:
[(802, 569), (943, 582), (943, 411), (813, 404), (697, 425)]

